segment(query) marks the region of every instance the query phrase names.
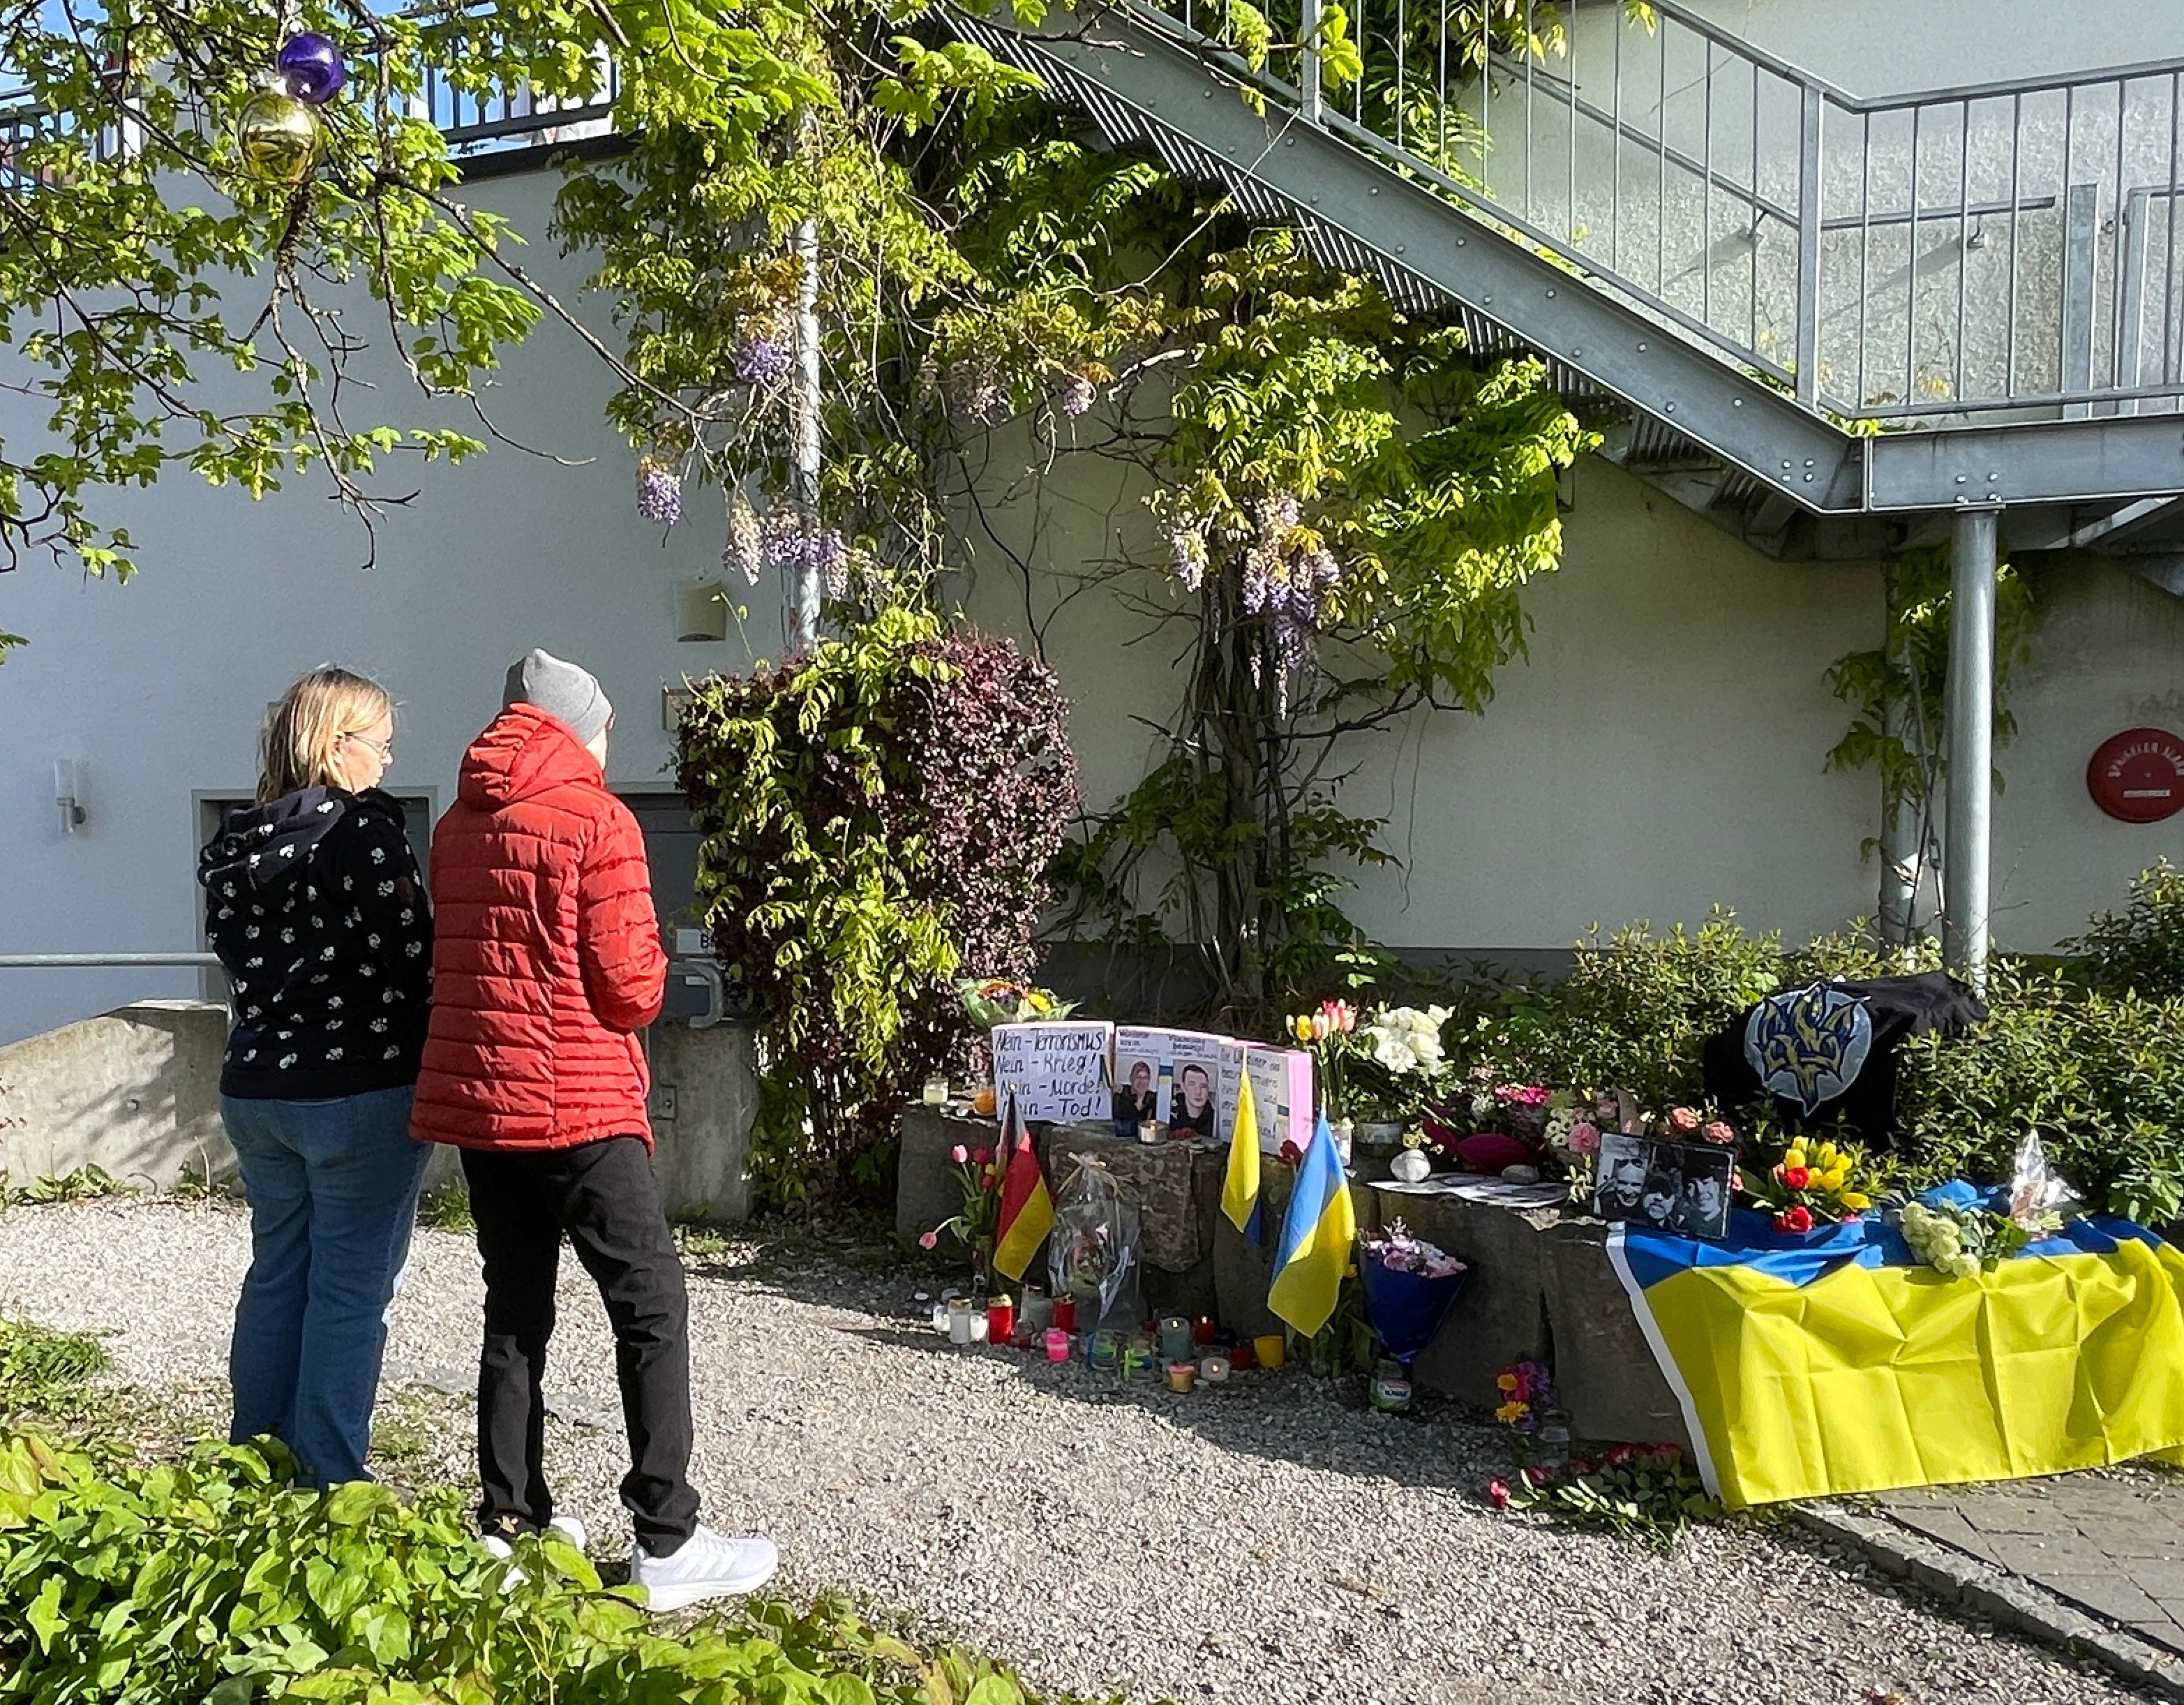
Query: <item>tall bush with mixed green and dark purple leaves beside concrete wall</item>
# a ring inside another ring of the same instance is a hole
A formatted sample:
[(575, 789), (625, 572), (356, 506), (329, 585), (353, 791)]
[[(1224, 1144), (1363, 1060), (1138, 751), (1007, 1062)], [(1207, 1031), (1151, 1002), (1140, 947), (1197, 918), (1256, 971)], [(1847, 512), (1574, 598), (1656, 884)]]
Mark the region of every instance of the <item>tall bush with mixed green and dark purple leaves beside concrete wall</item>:
[(906, 1094), (963, 1059), (957, 974), (1031, 976), (1079, 808), (1064, 720), (1044, 664), (917, 609), (692, 690), (677, 766), (705, 923), (758, 1009), (764, 1205), (882, 1183)]

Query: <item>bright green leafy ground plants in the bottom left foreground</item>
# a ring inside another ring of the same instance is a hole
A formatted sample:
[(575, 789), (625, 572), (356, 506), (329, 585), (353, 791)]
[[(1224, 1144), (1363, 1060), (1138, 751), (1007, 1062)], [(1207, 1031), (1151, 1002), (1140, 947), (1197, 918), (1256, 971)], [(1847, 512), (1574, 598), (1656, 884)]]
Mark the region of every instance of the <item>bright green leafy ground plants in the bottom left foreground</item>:
[(745, 1602), (662, 1637), (559, 1539), (509, 1572), (439, 1489), (295, 1491), (256, 1447), (111, 1478), (0, 1436), (0, 1701), (354, 1705), (1022, 1705), (957, 1650), (919, 1655), (845, 1602)]

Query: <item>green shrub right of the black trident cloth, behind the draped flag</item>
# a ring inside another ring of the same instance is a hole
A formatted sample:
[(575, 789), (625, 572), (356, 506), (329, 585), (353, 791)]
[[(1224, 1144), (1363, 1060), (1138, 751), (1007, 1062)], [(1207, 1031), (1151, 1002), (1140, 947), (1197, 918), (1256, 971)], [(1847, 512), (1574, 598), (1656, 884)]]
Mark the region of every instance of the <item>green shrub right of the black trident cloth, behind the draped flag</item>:
[(2040, 1131), (2092, 1207), (2167, 1225), (2184, 1203), (2184, 1000), (2086, 989), (1998, 963), (1983, 1026), (1909, 1037), (1896, 1096), (1904, 1183), (2007, 1179)]

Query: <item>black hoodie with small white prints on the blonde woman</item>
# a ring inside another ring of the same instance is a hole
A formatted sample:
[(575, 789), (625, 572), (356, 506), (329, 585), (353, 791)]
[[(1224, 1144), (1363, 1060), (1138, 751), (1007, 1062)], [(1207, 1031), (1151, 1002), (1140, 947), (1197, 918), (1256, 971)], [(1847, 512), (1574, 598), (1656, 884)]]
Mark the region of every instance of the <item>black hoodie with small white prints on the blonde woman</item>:
[(325, 1100), (417, 1081), (432, 910), (378, 788), (304, 788), (227, 819), (197, 862), (234, 987), (221, 1094)]

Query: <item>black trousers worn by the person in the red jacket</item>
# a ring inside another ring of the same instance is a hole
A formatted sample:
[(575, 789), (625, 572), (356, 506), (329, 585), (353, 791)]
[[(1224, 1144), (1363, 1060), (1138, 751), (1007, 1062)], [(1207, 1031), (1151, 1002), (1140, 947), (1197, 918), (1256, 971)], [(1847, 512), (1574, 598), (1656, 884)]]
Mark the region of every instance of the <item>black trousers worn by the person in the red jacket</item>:
[(614, 1371), (629, 1428), (622, 1504), (636, 1519), (638, 1543), (653, 1557), (670, 1557), (697, 1530), (690, 1299), (644, 1140), (605, 1137), (535, 1155), (465, 1148), (463, 1177), (485, 1257), (478, 1526), (513, 1537), (553, 1519), (544, 1380), (566, 1231), (614, 1325)]

